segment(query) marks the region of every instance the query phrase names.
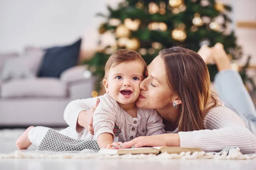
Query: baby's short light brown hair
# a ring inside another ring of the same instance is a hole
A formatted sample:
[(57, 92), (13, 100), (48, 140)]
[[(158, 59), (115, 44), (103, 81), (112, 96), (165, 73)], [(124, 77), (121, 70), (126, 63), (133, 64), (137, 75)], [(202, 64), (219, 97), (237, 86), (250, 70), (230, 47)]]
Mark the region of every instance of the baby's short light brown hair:
[[(125, 49), (115, 51), (108, 58), (108, 61), (106, 62), (105, 76), (104, 76), (103, 80), (107, 79), (108, 71), (111, 68), (114, 68), (114, 67), (116, 67), (116, 65), (119, 65), (120, 63), (123, 63), (123, 62), (134, 62), (134, 61), (142, 64), (142, 66), (144, 67), (143, 74), (145, 74), (145, 71), (147, 69), (147, 64), (137, 51), (125, 50)], [(103, 85), (103, 80), (102, 80), (102, 85)]]

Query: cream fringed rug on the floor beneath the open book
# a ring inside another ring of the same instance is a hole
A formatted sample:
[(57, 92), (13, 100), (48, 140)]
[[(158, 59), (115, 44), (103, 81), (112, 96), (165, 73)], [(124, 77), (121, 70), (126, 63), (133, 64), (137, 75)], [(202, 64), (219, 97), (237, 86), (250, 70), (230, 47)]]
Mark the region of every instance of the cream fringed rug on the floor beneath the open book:
[(99, 153), (36, 153), (16, 150), (10, 154), (0, 154), (0, 159), (29, 158), (29, 159), (255, 159), (256, 154), (243, 155), (238, 147), (219, 153), (183, 152), (180, 154), (161, 153), (154, 154), (126, 154), (126, 155), (102, 155)]

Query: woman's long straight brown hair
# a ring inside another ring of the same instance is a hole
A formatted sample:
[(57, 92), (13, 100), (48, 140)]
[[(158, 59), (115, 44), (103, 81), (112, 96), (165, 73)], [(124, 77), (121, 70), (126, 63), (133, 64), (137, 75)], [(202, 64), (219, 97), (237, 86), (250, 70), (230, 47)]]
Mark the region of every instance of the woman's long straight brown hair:
[(204, 129), (204, 116), (218, 105), (211, 94), (209, 71), (204, 60), (195, 51), (172, 47), (159, 52), (164, 60), (167, 83), (180, 97), (179, 131)]

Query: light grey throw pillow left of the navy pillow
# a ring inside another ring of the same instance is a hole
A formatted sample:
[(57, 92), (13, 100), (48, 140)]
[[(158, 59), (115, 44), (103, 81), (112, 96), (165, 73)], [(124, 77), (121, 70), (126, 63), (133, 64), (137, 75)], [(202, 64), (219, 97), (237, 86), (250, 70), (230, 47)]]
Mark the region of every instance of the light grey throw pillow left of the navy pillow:
[(37, 50), (8, 59), (0, 73), (0, 81), (36, 77), (44, 54), (43, 50)]

